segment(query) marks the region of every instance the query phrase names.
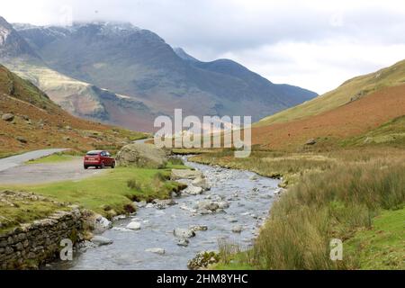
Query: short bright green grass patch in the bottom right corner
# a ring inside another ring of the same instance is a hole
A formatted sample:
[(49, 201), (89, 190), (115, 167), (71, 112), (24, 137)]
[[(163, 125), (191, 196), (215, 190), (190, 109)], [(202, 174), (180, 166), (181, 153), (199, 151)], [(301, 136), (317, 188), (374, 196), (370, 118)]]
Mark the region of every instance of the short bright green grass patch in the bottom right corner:
[(405, 269), (405, 209), (383, 211), (344, 243), (360, 269)]

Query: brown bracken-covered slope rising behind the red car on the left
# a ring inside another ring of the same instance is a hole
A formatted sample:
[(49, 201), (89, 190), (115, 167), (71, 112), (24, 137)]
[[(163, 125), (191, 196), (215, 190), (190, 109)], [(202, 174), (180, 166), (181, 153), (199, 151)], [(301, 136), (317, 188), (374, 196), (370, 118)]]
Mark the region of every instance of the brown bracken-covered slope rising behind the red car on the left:
[(78, 119), (0, 65), (0, 156), (37, 148), (119, 147), (143, 134)]

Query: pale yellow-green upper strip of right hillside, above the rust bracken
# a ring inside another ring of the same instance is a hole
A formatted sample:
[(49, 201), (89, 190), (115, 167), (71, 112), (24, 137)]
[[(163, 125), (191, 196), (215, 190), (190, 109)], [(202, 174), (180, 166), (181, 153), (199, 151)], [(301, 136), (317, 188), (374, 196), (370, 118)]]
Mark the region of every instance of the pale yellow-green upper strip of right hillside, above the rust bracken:
[(278, 112), (257, 122), (257, 126), (294, 121), (327, 112), (351, 101), (356, 101), (385, 87), (405, 84), (405, 60), (365, 76), (347, 80), (337, 89), (311, 101)]

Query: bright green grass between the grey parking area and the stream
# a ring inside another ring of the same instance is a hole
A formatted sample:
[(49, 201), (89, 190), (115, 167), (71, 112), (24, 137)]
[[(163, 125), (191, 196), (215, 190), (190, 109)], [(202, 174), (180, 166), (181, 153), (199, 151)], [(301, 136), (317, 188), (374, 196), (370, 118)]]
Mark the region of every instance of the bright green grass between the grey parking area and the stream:
[[(151, 201), (156, 198), (169, 198), (171, 192), (179, 189), (180, 186), (176, 182), (166, 180), (174, 167), (181, 166), (169, 165), (166, 169), (117, 167), (105, 171), (103, 175), (95, 175), (79, 181), (8, 186), (4, 189), (39, 193), (59, 202), (77, 203), (86, 209), (111, 217), (133, 210), (134, 200)], [(129, 180), (135, 180), (141, 189), (131, 189), (128, 186)]]

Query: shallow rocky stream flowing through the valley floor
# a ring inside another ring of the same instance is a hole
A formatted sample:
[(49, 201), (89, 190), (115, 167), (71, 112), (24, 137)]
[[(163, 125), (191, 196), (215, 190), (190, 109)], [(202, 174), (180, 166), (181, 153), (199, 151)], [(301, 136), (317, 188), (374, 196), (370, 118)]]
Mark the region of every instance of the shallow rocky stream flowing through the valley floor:
[[(186, 161), (185, 165), (202, 171), (211, 190), (198, 195), (175, 197), (177, 204), (166, 209), (139, 208), (135, 215), (113, 222), (113, 228), (101, 236), (110, 238), (108, 246), (89, 248), (73, 261), (59, 262), (56, 269), (187, 269), (188, 260), (204, 250), (218, 250), (219, 241), (238, 244), (241, 248), (252, 245), (259, 227), (268, 216), (275, 199), (279, 180), (262, 177), (248, 171), (206, 166)], [(221, 199), (229, 208), (212, 214), (198, 214), (192, 210), (196, 202), (206, 199)], [(148, 205), (150, 206), (150, 205)], [(185, 207), (190, 209), (185, 210)], [(130, 221), (141, 223), (141, 229), (129, 230)], [(204, 225), (207, 230), (198, 230), (189, 238), (187, 247), (177, 245), (176, 228), (188, 229)], [(240, 232), (232, 231), (238, 226)], [(165, 254), (146, 251), (160, 248)]]

